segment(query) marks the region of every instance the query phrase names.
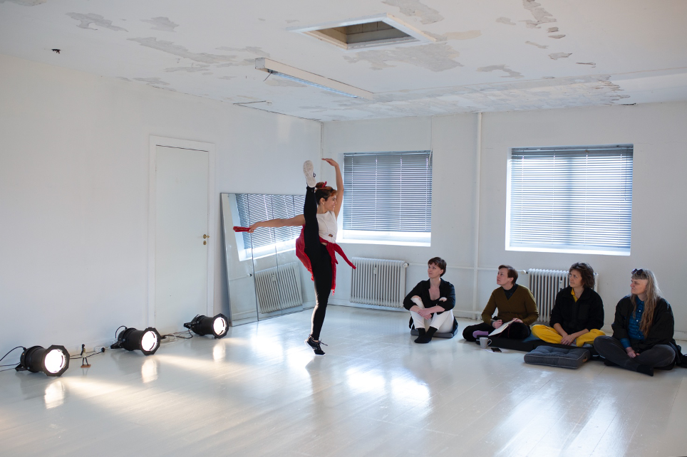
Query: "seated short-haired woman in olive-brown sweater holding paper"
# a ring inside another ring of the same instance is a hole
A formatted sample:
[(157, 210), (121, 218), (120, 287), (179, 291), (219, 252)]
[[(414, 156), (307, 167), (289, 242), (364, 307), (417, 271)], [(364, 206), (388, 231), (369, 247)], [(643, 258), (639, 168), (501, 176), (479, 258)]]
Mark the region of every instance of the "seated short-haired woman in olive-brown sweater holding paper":
[[(506, 330), (499, 334), (501, 338), (525, 340), (530, 336), (530, 325), (539, 317), (537, 305), (530, 289), (524, 285), (517, 285), (517, 270), (510, 265), (499, 266), (496, 283), (500, 288), (492, 292), (487, 306), (482, 311), (482, 323), (470, 325), (463, 330), (463, 338), (475, 341), (479, 337), (489, 335), (506, 322), (515, 320)], [(496, 319), (492, 318), (498, 309)]]

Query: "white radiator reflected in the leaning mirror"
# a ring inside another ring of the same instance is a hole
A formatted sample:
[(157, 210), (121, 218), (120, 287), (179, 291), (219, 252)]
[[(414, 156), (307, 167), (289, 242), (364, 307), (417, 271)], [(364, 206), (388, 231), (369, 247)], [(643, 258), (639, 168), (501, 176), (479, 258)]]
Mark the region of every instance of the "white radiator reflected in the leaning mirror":
[(301, 306), (301, 274), (298, 263), (255, 272), (255, 295), (261, 313)]

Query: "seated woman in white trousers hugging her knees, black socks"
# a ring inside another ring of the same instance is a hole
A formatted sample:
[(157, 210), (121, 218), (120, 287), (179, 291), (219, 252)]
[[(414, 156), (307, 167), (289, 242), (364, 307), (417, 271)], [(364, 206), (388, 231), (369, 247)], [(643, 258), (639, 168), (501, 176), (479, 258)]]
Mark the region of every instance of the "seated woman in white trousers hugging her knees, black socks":
[(410, 311), (410, 324), (420, 335), (416, 343), (428, 343), (436, 332), (450, 333), (458, 325), (453, 317), (455, 289), (441, 279), (446, 272), (446, 261), (433, 257), (427, 262), (429, 279), (420, 281), (403, 299), (403, 307)]

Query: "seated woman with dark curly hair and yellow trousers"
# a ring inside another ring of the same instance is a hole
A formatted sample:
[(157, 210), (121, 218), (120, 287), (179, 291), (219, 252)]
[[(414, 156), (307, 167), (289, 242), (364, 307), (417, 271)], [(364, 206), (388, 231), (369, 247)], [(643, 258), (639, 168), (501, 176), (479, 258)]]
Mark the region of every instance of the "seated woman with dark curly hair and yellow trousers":
[(546, 342), (579, 347), (606, 335), (599, 330), (604, 326), (604, 302), (594, 292), (594, 269), (589, 263), (573, 263), (568, 273), (570, 285), (556, 295), (551, 327), (534, 325), (532, 333)]

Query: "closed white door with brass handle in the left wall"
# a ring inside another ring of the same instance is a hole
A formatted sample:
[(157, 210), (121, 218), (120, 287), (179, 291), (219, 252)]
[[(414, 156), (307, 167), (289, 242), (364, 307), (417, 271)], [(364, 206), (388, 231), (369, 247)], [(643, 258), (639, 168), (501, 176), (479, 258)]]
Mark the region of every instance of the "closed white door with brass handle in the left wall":
[(155, 327), (183, 330), (207, 310), (208, 152), (157, 146)]

